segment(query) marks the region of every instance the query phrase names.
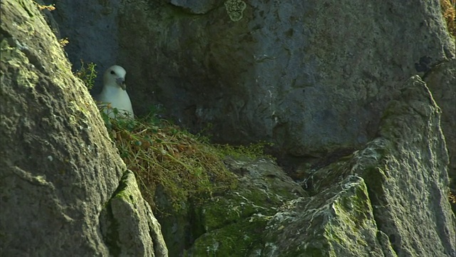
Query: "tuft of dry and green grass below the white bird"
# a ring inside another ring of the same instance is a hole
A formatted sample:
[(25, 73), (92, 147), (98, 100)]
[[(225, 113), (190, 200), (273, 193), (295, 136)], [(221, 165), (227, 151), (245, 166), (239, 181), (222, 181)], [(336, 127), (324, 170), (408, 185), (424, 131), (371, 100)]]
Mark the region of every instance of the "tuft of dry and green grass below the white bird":
[(158, 208), (155, 193), (159, 186), (175, 211), (185, 208), (188, 200), (202, 203), (213, 193), (237, 186), (236, 176), (224, 166), (224, 154), (218, 147), (168, 121), (157, 123), (153, 114), (136, 120), (101, 114), (120, 157), (135, 173), (152, 208)]

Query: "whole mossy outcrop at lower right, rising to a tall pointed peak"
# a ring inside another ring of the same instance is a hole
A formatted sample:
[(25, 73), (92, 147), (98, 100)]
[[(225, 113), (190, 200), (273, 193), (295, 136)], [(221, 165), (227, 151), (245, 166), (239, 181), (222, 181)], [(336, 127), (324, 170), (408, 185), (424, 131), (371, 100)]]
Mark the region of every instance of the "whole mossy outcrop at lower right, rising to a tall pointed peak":
[[(311, 196), (280, 205), (256, 198), (254, 190), (234, 192), (241, 201), (214, 198), (199, 216), (204, 233), (187, 253), (456, 256), (447, 163), (440, 109), (425, 83), (413, 76), (385, 109), (377, 138), (306, 181)], [(244, 168), (240, 171), (245, 175)], [(247, 174), (254, 170), (265, 169), (252, 163)], [(244, 176), (244, 180), (252, 181), (252, 177)], [(254, 185), (256, 190), (267, 188)], [(232, 216), (238, 216), (237, 222), (232, 222)]]

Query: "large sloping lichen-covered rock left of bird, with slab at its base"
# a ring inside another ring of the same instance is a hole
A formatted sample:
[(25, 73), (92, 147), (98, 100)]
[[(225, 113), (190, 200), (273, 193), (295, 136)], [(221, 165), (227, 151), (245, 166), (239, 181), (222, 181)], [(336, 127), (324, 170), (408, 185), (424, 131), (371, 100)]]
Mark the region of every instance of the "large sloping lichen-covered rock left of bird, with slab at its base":
[[(120, 213), (130, 210), (110, 201), (125, 164), (33, 1), (1, 1), (0, 47), (2, 256), (113, 254), (100, 213), (107, 203)], [(134, 189), (138, 210), (147, 210)], [(166, 256), (160, 227), (147, 213), (114, 218), (130, 226), (141, 247), (155, 247), (142, 256)], [(122, 238), (116, 247), (139, 252), (131, 240)]]

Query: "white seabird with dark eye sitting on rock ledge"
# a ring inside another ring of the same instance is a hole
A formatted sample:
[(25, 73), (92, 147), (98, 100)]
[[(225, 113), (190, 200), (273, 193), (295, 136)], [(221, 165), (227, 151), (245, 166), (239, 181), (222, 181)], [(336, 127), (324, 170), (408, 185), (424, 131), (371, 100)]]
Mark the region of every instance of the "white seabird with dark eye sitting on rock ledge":
[[(127, 72), (121, 66), (110, 66), (103, 75), (103, 90), (98, 96), (98, 101), (101, 101), (105, 106), (118, 109), (120, 114), (134, 119), (133, 108), (131, 106), (130, 97), (125, 91), (125, 74)], [(114, 118), (113, 109), (105, 108), (105, 114)]]

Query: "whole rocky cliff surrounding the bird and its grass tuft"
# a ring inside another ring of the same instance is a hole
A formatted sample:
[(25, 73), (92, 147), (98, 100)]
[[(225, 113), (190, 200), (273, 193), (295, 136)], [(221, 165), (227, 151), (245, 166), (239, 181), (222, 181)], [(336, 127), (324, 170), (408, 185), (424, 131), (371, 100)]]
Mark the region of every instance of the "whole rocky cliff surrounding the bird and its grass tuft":
[[(35, 2), (1, 1), (6, 256), (167, 256), (165, 241), (170, 256), (456, 256), (439, 1), (56, 7), (51, 31)], [(160, 216), (162, 236), (55, 35), (75, 65), (124, 66), (138, 114), (162, 104), (218, 141), (274, 142), (291, 168), (227, 158), (239, 187)]]

